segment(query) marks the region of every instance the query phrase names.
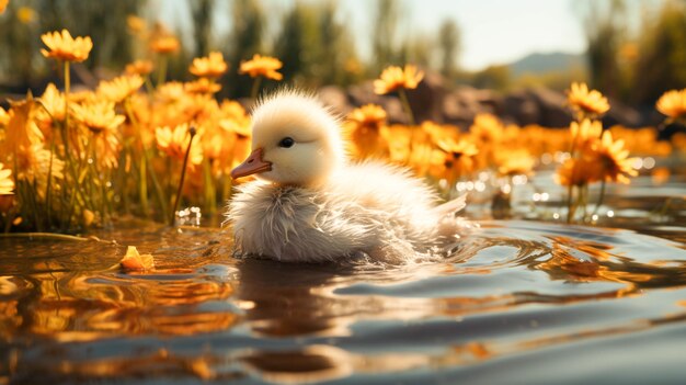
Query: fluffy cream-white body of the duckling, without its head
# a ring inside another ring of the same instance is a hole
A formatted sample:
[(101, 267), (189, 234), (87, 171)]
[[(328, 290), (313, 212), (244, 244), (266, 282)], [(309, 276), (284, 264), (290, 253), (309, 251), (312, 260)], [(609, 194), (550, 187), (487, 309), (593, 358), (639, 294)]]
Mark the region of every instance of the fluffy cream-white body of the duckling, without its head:
[(437, 206), (433, 189), (397, 167), (365, 162), (318, 188), (252, 181), (229, 203), (237, 251), (289, 262), (368, 256), (403, 263), (458, 237), (465, 197)]

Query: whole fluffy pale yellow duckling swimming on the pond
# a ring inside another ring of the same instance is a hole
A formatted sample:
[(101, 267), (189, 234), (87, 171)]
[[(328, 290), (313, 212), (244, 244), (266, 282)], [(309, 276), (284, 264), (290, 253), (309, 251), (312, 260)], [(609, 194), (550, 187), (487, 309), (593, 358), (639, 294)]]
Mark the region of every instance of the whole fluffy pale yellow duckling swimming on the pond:
[(465, 197), (437, 206), (405, 170), (348, 163), (339, 122), (311, 97), (278, 92), (252, 118), (252, 154), (231, 177), (259, 179), (239, 186), (227, 214), (242, 254), (403, 262), (456, 235)]

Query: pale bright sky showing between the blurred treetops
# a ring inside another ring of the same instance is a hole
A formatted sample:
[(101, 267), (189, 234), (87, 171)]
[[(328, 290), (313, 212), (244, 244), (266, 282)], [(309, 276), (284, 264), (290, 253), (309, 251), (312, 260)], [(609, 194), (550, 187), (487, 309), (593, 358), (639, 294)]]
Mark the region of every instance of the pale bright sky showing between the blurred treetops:
[[(282, 14), (297, 0), (262, 0), (267, 14)], [(323, 0), (301, 0), (318, 2)], [(396, 0), (402, 3), (400, 30), (407, 35), (435, 36), (446, 19), (457, 22), (461, 32), (459, 64), (468, 70), (489, 65), (507, 64), (531, 53), (583, 53), (586, 48), (580, 9), (588, 1), (608, 3), (609, 0)], [(641, 4), (662, 0), (627, 0), (630, 16), (640, 14)], [(161, 18), (168, 22), (181, 20), (183, 0), (153, 0), (161, 7)], [(175, 5), (172, 5), (175, 4)], [(218, 1), (219, 33), (229, 29), (227, 7), (230, 1)], [(355, 33), (363, 58), (370, 54), (376, 4), (373, 0), (340, 0), (340, 18)], [(170, 7), (171, 5), (171, 7)], [(281, 16), (272, 21), (277, 24)], [(273, 25), (274, 27), (274, 25)]]

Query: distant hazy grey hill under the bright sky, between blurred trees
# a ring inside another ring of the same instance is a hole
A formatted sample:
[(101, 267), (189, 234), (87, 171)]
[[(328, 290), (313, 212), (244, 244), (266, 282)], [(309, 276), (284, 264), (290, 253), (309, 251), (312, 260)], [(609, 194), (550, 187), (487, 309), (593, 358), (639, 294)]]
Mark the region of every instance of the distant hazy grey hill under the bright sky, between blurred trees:
[(586, 68), (586, 60), (583, 54), (535, 53), (510, 64), (508, 67), (511, 76), (518, 78), (526, 72), (540, 75)]

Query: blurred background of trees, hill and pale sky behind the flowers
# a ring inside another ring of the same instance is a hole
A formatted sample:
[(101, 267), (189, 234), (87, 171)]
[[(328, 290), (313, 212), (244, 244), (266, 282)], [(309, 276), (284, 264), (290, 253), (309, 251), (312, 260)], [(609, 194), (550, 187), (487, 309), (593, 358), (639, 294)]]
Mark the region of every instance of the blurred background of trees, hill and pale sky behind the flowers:
[[(181, 80), (193, 57), (220, 50), (233, 68), (255, 52), (276, 56), (287, 81), (312, 88), (347, 87), (404, 63), (441, 73), (448, 89), (561, 91), (587, 80), (631, 106), (686, 86), (682, 1), (25, 0), (0, 16), (0, 49), (12, 53), (0, 58), (0, 92), (42, 91), (56, 77), (38, 37), (62, 27), (94, 41), (81, 81), (118, 73), (146, 56), (130, 15), (180, 36), (170, 78)], [(221, 97), (249, 91), (235, 71), (222, 79)], [(643, 115), (624, 123), (655, 122)]]

